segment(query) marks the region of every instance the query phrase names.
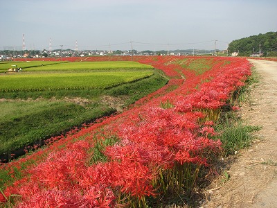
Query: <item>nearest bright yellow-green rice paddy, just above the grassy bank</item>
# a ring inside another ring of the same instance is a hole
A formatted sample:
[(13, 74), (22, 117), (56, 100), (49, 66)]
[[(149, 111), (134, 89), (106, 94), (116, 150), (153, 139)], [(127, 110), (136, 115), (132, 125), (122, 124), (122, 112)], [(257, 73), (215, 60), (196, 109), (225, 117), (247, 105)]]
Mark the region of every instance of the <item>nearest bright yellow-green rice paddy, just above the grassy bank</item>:
[(153, 71), (105, 71), (81, 73), (17, 73), (1, 76), (1, 92), (59, 89), (105, 89), (152, 76)]

